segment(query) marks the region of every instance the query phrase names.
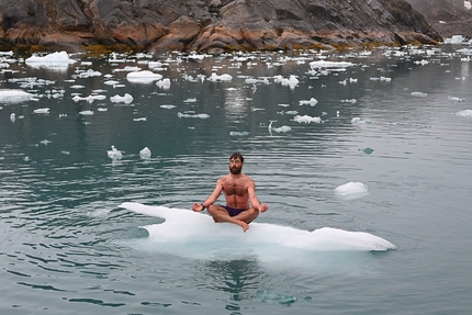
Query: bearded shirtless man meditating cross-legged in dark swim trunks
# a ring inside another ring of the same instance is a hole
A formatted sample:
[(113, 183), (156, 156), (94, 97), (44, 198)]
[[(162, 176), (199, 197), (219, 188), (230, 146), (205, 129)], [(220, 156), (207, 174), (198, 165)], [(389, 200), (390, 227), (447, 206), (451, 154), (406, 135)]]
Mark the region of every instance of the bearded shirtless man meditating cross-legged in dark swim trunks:
[[(241, 172), (243, 166), (244, 157), (234, 153), (229, 157), (229, 173), (220, 178), (213, 193), (203, 203), (195, 202), (192, 210), (200, 212), (207, 209), (215, 222), (234, 223), (246, 232), (259, 212), (266, 212), (269, 207), (257, 199), (256, 184)], [(214, 204), (222, 192), (226, 199), (225, 206)]]

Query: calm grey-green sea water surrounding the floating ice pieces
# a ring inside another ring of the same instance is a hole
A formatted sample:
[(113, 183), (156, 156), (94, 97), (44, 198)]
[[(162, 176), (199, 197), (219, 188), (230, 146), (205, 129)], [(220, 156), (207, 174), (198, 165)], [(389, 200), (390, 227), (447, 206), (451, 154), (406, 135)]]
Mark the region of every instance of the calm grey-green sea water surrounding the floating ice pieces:
[[(0, 103), (0, 313), (470, 314), (470, 55), (469, 45), (324, 54), (355, 64), (330, 71), (310, 71), (317, 54), (71, 56), (59, 68), (2, 56), (0, 92), (34, 100)], [(126, 79), (136, 70), (126, 66), (159, 60), (169, 89)], [(89, 69), (101, 76), (79, 76)], [(274, 80), (290, 75), (294, 88)], [(111, 99), (125, 93), (132, 102)], [(235, 150), (269, 205), (257, 222), (367, 232), (397, 248), (245, 252), (215, 235), (164, 250), (142, 227), (162, 220), (120, 206), (190, 210)], [(337, 196), (349, 182), (369, 193)]]

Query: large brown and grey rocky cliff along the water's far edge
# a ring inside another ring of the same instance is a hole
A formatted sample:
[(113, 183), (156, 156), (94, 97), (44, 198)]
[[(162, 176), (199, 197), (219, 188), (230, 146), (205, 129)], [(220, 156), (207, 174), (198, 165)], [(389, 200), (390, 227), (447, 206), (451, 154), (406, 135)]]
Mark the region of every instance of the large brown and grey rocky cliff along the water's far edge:
[(436, 44), (405, 0), (1, 0), (0, 46), (223, 52)]

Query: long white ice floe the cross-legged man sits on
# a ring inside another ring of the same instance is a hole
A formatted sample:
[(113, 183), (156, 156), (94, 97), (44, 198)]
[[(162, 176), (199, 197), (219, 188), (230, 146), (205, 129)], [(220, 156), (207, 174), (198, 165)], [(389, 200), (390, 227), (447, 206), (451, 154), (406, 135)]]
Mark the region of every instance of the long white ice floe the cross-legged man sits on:
[[(278, 252), (284, 249), (304, 251), (385, 251), (395, 249), (392, 243), (363, 232), (348, 232), (323, 227), (313, 232), (276, 224), (252, 222), (249, 229), (234, 224), (215, 224), (211, 216), (184, 209), (150, 206), (125, 202), (121, 207), (165, 218), (164, 223), (143, 226), (155, 247), (180, 255), (209, 257), (217, 250), (234, 252), (239, 248), (262, 252), (271, 247)], [(217, 237), (216, 237), (217, 236)], [(223, 246), (220, 246), (223, 244)], [(196, 247), (196, 248), (195, 248)], [(180, 249), (178, 249), (180, 248)]]

